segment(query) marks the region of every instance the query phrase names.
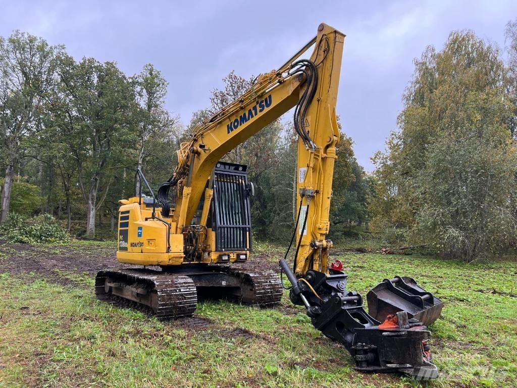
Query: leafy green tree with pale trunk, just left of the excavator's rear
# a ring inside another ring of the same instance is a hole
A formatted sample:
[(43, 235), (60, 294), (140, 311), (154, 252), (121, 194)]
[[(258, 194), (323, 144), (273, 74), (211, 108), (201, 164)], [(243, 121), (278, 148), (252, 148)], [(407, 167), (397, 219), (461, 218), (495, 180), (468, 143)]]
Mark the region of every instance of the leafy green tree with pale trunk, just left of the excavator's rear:
[[(116, 171), (129, 167), (138, 141), (135, 95), (130, 80), (113, 62), (63, 56), (59, 74), (69, 118), (63, 144), (75, 160), (86, 202), (86, 235), (95, 235), (96, 211)], [(103, 194), (98, 197), (99, 189)]]

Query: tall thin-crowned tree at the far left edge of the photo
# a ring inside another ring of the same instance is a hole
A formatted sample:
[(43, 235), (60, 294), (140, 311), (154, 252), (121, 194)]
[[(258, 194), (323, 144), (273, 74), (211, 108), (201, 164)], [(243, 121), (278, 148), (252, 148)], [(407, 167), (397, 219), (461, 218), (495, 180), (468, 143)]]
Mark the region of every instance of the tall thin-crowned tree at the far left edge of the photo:
[(49, 46), (19, 31), (7, 39), (0, 37), (0, 141), (6, 165), (0, 223), (9, 214), (14, 170), (24, 157), (23, 143), (38, 130), (42, 101), (55, 84), (55, 58), (63, 50), (63, 46)]

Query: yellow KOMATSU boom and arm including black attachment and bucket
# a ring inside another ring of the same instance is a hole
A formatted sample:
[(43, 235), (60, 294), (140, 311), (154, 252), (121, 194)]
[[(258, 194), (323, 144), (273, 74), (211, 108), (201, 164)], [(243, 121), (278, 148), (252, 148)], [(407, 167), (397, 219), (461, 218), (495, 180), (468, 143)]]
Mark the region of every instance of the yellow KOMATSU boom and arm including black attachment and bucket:
[[(239, 99), (197, 126), (178, 151), (173, 176), (158, 191), (161, 215), (181, 234), (192, 224), (204, 198), (201, 227), (206, 227), (213, 195), (212, 172), (226, 153), (245, 142), (283, 113), (294, 109), (298, 133), (297, 220), (290, 248), (294, 266), (280, 259), (291, 283), (293, 303), (307, 308), (314, 326), (344, 344), (362, 371), (402, 371), (434, 378), (430, 332), (442, 303), (413, 279), (386, 279), (369, 293), (375, 301), (367, 314), (362, 297), (346, 289), (347, 275), (329, 265), (332, 242), (329, 211), (336, 146), (340, 132), (336, 101), (344, 34), (321, 24), (317, 36), (278, 70), (261, 74)], [(310, 59), (299, 59), (314, 45)], [(168, 196), (177, 190), (175, 208)], [(293, 242), (295, 243), (293, 245)], [(402, 307), (401, 307), (402, 306)], [(383, 322), (381, 322), (383, 321)]]

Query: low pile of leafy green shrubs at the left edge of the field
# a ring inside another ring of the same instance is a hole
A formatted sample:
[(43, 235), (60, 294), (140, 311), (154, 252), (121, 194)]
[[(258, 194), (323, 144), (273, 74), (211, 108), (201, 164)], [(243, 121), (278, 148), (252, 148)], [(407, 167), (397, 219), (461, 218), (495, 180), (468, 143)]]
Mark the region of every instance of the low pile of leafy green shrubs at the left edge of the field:
[(24, 218), (10, 213), (7, 222), (0, 228), (0, 236), (10, 243), (55, 244), (70, 241), (69, 235), (50, 214)]

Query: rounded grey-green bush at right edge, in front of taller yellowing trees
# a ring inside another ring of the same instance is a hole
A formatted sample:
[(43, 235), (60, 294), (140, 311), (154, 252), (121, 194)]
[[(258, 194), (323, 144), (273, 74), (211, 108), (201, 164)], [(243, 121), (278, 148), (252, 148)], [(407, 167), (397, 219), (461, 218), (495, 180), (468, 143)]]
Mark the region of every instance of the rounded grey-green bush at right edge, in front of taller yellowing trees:
[(439, 141), (428, 153), (418, 179), (418, 231), (449, 257), (470, 261), (515, 244), (517, 158), (512, 146), (490, 144), (495, 139)]

